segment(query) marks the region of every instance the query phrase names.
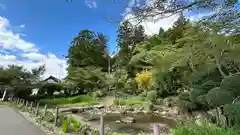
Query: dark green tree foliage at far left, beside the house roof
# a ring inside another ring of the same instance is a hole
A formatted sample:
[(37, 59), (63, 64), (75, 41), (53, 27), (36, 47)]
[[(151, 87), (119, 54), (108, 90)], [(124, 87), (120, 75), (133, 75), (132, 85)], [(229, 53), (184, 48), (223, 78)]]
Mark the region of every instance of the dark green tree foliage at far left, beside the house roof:
[(0, 85), (15, 96), (25, 98), (31, 94), (33, 88), (41, 85), (39, 80), (44, 71), (44, 66), (31, 71), (16, 65), (8, 65), (6, 68), (0, 67)]

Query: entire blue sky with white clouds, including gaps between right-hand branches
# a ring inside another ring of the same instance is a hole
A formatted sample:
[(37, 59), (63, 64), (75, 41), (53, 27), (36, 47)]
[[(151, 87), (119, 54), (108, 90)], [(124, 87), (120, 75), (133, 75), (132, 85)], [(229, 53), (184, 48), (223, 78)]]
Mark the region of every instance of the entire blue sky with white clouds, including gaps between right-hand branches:
[[(46, 65), (45, 77), (66, 75), (69, 43), (81, 29), (103, 32), (109, 49), (116, 48), (116, 31), (123, 15), (140, 0), (0, 0), (0, 65), (26, 69)], [(190, 15), (196, 19), (201, 15)], [(125, 17), (126, 18), (126, 17)], [(178, 15), (143, 22), (146, 34), (168, 29)]]

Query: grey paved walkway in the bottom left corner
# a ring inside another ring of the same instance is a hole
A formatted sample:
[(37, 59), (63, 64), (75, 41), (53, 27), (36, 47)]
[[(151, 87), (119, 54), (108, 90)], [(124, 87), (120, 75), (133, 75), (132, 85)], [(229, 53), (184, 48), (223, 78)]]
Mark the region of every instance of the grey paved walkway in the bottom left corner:
[(0, 105), (0, 135), (45, 135), (12, 108)]

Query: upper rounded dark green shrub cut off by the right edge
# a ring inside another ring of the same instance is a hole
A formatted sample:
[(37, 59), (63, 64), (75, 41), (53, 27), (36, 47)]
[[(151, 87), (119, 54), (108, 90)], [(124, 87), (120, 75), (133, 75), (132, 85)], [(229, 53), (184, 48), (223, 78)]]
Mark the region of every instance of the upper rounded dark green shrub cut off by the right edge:
[(240, 73), (225, 77), (220, 85), (221, 89), (232, 91), (235, 96), (240, 96)]

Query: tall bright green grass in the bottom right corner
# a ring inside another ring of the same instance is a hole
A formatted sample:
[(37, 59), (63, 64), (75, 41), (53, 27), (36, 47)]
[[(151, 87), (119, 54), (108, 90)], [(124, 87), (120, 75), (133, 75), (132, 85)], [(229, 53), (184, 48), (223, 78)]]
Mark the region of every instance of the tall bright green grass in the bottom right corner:
[(234, 128), (220, 128), (213, 124), (199, 126), (190, 124), (181, 125), (173, 130), (173, 135), (240, 135), (240, 130)]

